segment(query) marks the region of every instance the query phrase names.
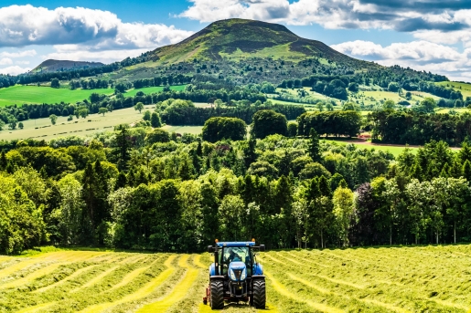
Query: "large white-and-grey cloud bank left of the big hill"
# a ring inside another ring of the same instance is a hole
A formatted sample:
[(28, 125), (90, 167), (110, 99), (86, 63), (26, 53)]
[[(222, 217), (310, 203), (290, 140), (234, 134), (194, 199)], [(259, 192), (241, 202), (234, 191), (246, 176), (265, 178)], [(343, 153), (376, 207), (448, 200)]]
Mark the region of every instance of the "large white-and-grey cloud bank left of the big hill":
[(0, 8), (0, 47), (88, 44), (97, 50), (133, 49), (175, 43), (191, 34), (163, 24), (123, 23), (109, 11), (83, 7)]

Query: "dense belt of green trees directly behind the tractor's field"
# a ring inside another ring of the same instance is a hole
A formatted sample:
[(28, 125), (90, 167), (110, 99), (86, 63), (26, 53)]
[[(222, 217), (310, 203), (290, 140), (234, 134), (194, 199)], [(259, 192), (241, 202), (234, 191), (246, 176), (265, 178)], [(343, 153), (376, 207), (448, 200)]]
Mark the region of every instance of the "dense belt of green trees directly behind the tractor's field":
[(269, 248), (471, 240), (467, 141), (457, 152), (431, 141), (394, 158), (320, 141), (314, 128), (296, 137), (273, 110), (252, 120), (246, 138), (230, 127), (243, 129), (242, 120), (205, 126), (236, 141), (123, 126), (89, 138), (2, 141), (0, 250), (197, 252), (214, 238), (252, 237)]

